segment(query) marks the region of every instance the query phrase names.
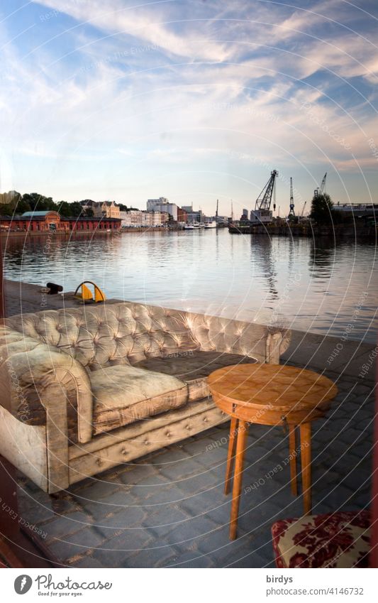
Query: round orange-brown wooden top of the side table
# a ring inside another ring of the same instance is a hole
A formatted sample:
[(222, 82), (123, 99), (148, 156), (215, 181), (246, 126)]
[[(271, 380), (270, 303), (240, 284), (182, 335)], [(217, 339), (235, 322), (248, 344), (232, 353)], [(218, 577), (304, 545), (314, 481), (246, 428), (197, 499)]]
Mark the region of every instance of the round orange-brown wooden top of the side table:
[(208, 377), (216, 398), (249, 408), (269, 406), (275, 411), (315, 408), (330, 401), (338, 389), (328, 377), (282, 364), (235, 364)]

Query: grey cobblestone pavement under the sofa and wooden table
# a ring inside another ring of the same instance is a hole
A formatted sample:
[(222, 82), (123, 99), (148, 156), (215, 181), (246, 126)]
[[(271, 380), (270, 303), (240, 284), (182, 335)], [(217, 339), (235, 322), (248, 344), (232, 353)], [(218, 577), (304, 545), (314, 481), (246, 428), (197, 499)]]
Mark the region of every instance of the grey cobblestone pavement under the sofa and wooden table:
[[(372, 382), (328, 376), (339, 394), (313, 423), (314, 513), (370, 500)], [(273, 567), (272, 522), (302, 512), (301, 496), (290, 492), (287, 435), (251, 425), (233, 542), (223, 494), (227, 442), (226, 424), (52, 496), (21, 478), (21, 515), (70, 567)]]

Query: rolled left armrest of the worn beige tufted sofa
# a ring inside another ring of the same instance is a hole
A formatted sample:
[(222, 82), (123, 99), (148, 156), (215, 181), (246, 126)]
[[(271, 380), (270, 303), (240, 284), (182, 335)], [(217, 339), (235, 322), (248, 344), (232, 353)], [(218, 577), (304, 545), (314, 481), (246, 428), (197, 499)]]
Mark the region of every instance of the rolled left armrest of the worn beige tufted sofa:
[(70, 414), (77, 421), (79, 442), (91, 440), (89, 376), (68, 354), (1, 325), (0, 388), (1, 406), (24, 423), (45, 424), (48, 439), (60, 432), (67, 437)]

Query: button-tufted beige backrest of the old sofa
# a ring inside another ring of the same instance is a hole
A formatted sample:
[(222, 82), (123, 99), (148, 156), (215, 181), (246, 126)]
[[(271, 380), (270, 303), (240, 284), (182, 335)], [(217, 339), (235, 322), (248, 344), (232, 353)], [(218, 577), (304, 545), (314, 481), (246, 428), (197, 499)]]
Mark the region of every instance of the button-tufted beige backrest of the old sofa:
[[(70, 354), (91, 371), (180, 350), (216, 349), (264, 362), (267, 335), (277, 332), (265, 325), (132, 302), (46, 310), (10, 317), (6, 324)], [(280, 353), (289, 343), (282, 334)]]

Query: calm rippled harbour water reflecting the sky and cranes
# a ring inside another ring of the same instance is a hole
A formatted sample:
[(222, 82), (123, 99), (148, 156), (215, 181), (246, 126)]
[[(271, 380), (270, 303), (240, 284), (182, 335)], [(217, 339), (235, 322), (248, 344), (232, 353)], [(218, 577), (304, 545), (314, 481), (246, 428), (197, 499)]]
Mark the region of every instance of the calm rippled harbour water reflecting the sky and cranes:
[(72, 291), (90, 280), (109, 298), (377, 342), (374, 243), (210, 229), (15, 237), (3, 253), (15, 281)]

